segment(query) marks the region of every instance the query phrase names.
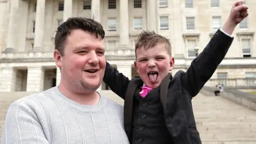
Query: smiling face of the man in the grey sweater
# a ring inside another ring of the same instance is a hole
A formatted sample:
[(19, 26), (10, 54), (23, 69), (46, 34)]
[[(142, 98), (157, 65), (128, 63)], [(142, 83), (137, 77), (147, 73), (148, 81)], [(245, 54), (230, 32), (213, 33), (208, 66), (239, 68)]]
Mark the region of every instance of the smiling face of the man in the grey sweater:
[(57, 66), (70, 89), (95, 91), (105, 73), (105, 48), (102, 39), (75, 29), (67, 37), (65, 52)]

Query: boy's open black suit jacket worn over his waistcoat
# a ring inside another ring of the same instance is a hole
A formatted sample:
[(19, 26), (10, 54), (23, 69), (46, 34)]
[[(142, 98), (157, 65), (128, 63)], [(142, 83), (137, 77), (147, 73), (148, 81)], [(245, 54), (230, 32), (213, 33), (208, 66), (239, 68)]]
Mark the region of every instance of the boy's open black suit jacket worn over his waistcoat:
[[(221, 30), (217, 30), (203, 52), (191, 62), (186, 73), (180, 70), (171, 79), (166, 100), (165, 125), (174, 143), (201, 143), (196, 130), (191, 99), (199, 93), (225, 58), (233, 39)], [(107, 63), (103, 81), (124, 99), (130, 83), (129, 78)], [(129, 128), (125, 127), (125, 129)], [(130, 133), (128, 132), (127, 135)]]

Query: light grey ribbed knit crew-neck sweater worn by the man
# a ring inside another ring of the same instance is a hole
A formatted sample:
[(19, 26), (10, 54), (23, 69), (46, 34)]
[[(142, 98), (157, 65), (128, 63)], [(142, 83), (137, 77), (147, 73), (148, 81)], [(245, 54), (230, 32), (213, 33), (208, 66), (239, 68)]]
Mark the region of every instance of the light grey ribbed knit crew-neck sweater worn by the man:
[(81, 105), (53, 87), (11, 104), (2, 134), (5, 143), (122, 144), (129, 140), (123, 106), (103, 95), (98, 105)]

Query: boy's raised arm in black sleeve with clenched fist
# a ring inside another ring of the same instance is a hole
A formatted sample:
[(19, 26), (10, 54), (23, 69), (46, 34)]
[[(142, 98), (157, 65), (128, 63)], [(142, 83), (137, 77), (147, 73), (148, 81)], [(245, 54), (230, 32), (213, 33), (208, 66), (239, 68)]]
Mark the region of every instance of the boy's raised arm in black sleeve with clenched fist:
[(243, 1), (236, 2), (225, 25), (222, 29), (217, 30), (203, 52), (191, 62), (190, 67), (182, 77), (182, 84), (192, 97), (198, 94), (225, 58), (234, 39), (230, 35), (237, 24), (247, 17), (247, 9), (248, 7), (243, 5)]

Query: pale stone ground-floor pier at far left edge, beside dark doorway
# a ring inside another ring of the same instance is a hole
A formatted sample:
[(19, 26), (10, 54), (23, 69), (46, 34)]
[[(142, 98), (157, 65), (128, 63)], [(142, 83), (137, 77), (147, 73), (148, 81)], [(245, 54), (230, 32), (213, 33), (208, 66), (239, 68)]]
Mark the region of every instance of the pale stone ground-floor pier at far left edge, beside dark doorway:
[(15, 91), (16, 86), (16, 70), (14, 68), (3, 68), (0, 75), (0, 92)]

